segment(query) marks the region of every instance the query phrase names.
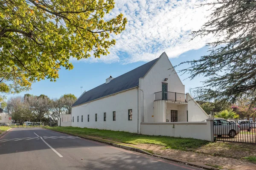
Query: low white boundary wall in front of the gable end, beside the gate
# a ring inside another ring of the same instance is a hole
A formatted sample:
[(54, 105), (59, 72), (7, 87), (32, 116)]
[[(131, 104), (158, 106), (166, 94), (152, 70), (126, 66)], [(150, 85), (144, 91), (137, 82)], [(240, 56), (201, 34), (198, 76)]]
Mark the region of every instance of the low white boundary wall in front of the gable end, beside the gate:
[(207, 122), (141, 123), (141, 134), (202, 139), (213, 142), (213, 120)]

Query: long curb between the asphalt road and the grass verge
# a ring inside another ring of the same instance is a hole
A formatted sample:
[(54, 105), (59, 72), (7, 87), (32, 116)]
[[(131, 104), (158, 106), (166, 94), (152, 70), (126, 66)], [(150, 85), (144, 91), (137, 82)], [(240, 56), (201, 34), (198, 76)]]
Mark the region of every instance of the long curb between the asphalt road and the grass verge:
[[(47, 129), (47, 130), (52, 130), (52, 129)], [(144, 153), (144, 154), (154, 156), (154, 157), (157, 157), (157, 158), (162, 158), (162, 159), (167, 159), (167, 160), (170, 160), (170, 161), (175, 161), (175, 162), (178, 162), (178, 163), (181, 163), (181, 164), (191, 165), (191, 166), (195, 166), (195, 167), (202, 167), (206, 170), (219, 170), (218, 168), (211, 167), (211, 166), (208, 166), (208, 165), (205, 165), (205, 164), (198, 164), (198, 163), (195, 163), (195, 162), (184, 161), (184, 160), (181, 160), (181, 159), (175, 159), (175, 158), (171, 158), (171, 157), (168, 157), (168, 156), (152, 154), (152, 153), (146, 152), (145, 150), (141, 150), (141, 149), (138, 149), (138, 148), (135, 148), (135, 147), (129, 147), (129, 146), (121, 145), (121, 144), (114, 144), (114, 143), (111, 143), (111, 142), (105, 142), (105, 141), (101, 141), (101, 140), (98, 140), (98, 139), (79, 136), (76, 133), (62, 132), (62, 131), (60, 132), (58, 130), (52, 130), (52, 131), (59, 132), (59, 133), (64, 133), (64, 134), (68, 134), (68, 135), (73, 135), (73, 136), (78, 136), (78, 137), (83, 138), (83, 139), (88, 139), (88, 140), (91, 140), (91, 141), (96, 141), (96, 142), (108, 144), (108, 145), (111, 145), (111, 146), (114, 146), (114, 147), (120, 147), (120, 148), (123, 148), (123, 149), (126, 149), (126, 150), (133, 150), (133, 151)]]

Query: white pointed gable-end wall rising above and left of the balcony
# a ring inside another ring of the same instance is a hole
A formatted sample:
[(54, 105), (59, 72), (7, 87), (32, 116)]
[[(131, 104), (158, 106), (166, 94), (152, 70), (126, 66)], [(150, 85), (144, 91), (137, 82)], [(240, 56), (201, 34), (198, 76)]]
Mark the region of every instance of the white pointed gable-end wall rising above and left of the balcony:
[[(168, 70), (169, 68), (171, 69)], [(164, 81), (165, 78), (168, 80)], [(143, 115), (144, 108), (144, 122), (154, 122), (154, 117), (152, 117), (154, 115), (154, 93), (162, 91), (162, 82), (168, 83), (168, 91), (185, 93), (185, 86), (173, 71), (166, 53), (160, 56), (144, 78), (140, 78), (140, 113)], [(143, 117), (141, 117), (141, 122), (143, 122)]]

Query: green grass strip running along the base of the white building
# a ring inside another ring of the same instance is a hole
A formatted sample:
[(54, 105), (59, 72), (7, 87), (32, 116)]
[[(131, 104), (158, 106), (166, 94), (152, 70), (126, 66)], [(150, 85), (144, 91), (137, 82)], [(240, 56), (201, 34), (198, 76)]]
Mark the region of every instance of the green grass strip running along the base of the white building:
[(139, 135), (137, 133), (80, 127), (47, 127), (47, 129), (52, 129), (60, 132), (69, 132), (84, 136), (97, 136), (101, 137), (102, 139), (109, 139), (112, 141), (122, 142), (126, 144), (157, 144), (169, 149), (178, 150), (194, 149), (210, 143), (208, 141), (199, 139), (175, 138), (168, 136), (148, 136)]

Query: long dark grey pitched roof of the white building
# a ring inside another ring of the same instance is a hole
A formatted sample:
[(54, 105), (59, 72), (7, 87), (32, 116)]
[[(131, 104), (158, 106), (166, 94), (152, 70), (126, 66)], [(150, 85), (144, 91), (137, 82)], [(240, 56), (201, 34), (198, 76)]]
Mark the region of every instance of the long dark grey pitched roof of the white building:
[(132, 71), (122, 74), (121, 76), (112, 79), (111, 82), (107, 84), (104, 83), (91, 89), (90, 91), (85, 92), (72, 106), (81, 105), (104, 96), (139, 86), (139, 78), (144, 77), (158, 59), (159, 58), (154, 59), (151, 62), (141, 65)]

